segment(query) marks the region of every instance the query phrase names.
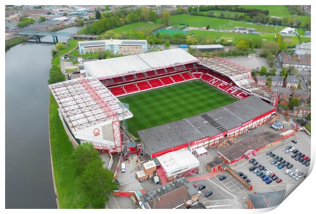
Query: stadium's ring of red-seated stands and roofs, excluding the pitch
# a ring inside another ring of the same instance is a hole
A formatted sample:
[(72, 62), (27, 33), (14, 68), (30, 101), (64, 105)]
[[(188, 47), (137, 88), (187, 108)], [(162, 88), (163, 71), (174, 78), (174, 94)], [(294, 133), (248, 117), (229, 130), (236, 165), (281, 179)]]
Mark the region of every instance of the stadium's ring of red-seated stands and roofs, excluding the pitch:
[[(85, 62), (84, 66), (86, 78), (49, 88), (74, 138), (78, 142), (90, 141), (100, 150), (122, 151), (126, 130), (120, 121), (133, 117), (117, 97), (194, 79), (239, 100), (191, 118), (139, 131), (141, 147), (151, 157), (179, 149), (214, 146), (225, 137), (242, 135), (263, 124), (276, 111), (278, 97), (270, 89), (257, 85), (250, 69), (220, 58), (196, 58), (180, 48)], [(186, 134), (181, 136), (181, 132)]]

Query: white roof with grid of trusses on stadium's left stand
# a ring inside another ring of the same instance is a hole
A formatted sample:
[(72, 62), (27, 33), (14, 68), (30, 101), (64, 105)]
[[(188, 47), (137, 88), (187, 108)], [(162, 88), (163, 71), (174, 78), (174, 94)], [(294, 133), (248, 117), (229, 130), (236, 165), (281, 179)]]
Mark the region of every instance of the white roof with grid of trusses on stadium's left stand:
[(121, 102), (95, 77), (75, 78), (48, 87), (73, 133), (112, 123), (112, 113), (119, 120), (123, 119), (123, 114), (124, 119), (133, 117), (130, 111), (123, 111)]

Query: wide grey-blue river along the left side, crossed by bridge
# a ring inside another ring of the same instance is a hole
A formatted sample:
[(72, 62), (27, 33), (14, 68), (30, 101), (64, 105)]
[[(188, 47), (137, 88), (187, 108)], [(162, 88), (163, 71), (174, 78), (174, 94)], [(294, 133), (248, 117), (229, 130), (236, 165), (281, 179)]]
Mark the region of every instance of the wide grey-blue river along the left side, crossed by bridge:
[(48, 143), (47, 79), (53, 47), (21, 43), (6, 52), (6, 208), (57, 208)]

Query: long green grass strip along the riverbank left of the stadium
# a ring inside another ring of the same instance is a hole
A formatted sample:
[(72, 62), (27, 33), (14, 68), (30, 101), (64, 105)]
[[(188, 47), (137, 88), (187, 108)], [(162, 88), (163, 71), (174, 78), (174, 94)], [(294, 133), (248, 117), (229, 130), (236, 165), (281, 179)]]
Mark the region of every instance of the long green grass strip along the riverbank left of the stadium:
[(50, 94), (50, 146), (59, 205), (60, 208), (84, 208), (86, 204), (78, 187), (80, 185), (70, 158), (74, 149), (59, 118), (57, 109), (58, 105), (55, 98)]

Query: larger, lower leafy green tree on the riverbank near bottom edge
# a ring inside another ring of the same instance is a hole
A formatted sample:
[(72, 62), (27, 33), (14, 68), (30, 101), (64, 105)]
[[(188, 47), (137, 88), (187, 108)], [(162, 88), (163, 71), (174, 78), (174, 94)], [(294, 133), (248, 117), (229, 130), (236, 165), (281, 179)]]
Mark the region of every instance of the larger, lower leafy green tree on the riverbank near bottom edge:
[(93, 208), (104, 208), (105, 203), (109, 200), (108, 195), (117, 189), (113, 173), (104, 169), (102, 165), (103, 162), (98, 156), (98, 159), (86, 164), (79, 179), (86, 196), (85, 201)]

